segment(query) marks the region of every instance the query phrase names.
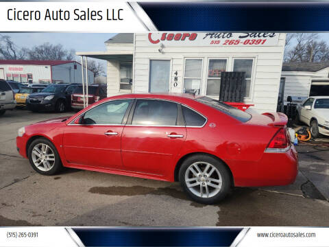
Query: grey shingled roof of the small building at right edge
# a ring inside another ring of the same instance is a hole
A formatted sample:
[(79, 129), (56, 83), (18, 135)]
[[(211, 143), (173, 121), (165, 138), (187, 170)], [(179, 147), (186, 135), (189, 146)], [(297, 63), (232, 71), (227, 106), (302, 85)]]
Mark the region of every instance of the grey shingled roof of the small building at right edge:
[(329, 62), (284, 62), (282, 71), (310, 71), (316, 72), (329, 67)]

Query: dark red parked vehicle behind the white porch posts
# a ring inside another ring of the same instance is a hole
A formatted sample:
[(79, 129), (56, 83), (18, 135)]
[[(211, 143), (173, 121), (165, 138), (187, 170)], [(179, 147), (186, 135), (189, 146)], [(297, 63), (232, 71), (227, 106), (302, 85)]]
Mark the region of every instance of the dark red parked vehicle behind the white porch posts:
[[(88, 86), (88, 105), (98, 102), (100, 99), (106, 98), (106, 84), (91, 84)], [(86, 88), (85, 88), (86, 90)], [(86, 92), (85, 92), (86, 93)], [(84, 108), (84, 95), (82, 86), (78, 86), (72, 93), (71, 107), (75, 111)]]

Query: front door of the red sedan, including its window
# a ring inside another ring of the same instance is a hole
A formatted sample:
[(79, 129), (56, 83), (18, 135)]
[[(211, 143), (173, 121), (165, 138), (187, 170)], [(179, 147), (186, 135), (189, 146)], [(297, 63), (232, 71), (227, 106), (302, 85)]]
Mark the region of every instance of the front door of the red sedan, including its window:
[(105, 169), (121, 168), (121, 134), (132, 99), (105, 102), (88, 110), (80, 124), (64, 129), (66, 162)]

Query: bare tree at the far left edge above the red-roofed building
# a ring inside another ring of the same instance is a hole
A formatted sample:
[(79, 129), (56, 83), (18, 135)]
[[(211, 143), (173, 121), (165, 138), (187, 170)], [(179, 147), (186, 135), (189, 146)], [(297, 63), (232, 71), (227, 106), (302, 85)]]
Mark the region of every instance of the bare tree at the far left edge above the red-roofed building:
[(17, 47), (10, 36), (1, 36), (0, 39), (0, 58), (6, 60), (25, 59), (27, 54), (26, 48)]

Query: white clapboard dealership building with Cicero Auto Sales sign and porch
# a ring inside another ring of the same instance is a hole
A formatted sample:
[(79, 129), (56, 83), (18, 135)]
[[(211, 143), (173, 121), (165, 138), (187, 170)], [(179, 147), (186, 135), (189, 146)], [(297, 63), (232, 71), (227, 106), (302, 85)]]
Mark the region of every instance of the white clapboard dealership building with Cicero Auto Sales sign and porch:
[(219, 99), (220, 72), (245, 71), (244, 102), (276, 111), (286, 34), (117, 34), (106, 51), (77, 55), (108, 61), (108, 96), (190, 89)]

